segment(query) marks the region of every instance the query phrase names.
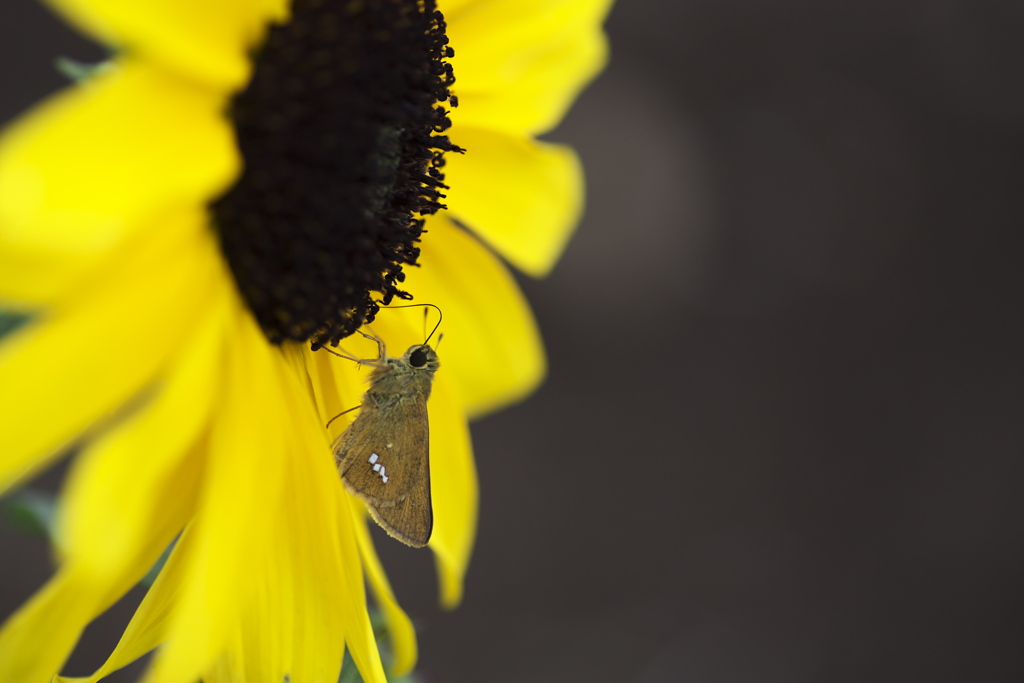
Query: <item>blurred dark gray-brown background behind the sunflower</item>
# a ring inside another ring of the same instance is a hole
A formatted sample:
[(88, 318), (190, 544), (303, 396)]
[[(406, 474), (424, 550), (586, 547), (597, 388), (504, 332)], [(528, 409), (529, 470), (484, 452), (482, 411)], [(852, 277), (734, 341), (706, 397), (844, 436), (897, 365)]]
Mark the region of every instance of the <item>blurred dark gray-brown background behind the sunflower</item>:
[[(428, 683), (1024, 680), (1024, 3), (624, 0)], [(458, 48), (458, 46), (456, 46)], [(98, 56), (0, 6), (0, 119)], [(8, 613), (50, 570), (0, 529)], [(133, 594), (68, 669), (96, 666)], [(133, 680), (137, 669), (112, 680)]]

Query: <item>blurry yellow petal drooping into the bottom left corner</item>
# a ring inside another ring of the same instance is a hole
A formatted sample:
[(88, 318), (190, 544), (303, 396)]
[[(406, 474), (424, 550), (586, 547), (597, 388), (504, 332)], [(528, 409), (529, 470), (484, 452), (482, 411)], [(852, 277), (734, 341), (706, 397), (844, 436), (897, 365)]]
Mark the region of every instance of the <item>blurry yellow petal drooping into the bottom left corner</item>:
[[(193, 445), (216, 394), (222, 315), (211, 307), (152, 404), (76, 459), (58, 523), (65, 564), (0, 632), (0, 680), (52, 677), (85, 626), (137, 584), (184, 526), (202, 471)], [(174, 495), (162, 495), (168, 490)]]

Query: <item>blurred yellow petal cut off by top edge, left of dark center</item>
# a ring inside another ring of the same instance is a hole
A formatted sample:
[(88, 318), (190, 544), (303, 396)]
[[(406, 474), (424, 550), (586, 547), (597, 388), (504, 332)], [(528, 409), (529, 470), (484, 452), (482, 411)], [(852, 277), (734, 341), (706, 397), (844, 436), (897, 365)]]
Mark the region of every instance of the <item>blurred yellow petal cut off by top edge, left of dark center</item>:
[(100, 42), (224, 92), (249, 79), (249, 51), (282, 13), (269, 0), (46, 1)]

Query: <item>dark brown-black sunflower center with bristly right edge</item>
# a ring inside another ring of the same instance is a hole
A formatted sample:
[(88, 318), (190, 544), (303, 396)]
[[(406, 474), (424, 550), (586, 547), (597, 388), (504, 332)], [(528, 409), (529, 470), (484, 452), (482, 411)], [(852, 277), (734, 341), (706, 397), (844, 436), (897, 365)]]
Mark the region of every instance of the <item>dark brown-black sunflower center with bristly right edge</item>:
[(439, 102), (455, 82), (434, 0), (295, 0), (231, 102), (245, 171), (212, 204), (267, 338), (337, 344), (374, 318), (443, 208)]

